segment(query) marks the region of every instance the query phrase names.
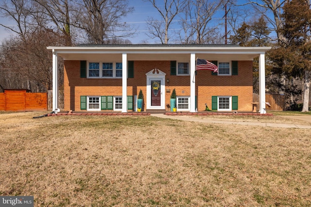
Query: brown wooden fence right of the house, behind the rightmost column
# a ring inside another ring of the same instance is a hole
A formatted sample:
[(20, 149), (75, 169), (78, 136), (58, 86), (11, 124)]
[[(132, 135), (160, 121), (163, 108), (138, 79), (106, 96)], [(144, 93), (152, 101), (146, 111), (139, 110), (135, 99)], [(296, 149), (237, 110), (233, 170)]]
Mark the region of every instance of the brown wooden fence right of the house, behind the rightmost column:
[[(253, 93), (253, 102), (259, 102), (259, 94)], [(265, 106), (266, 111), (283, 111), (285, 109), (285, 96), (280, 94), (266, 94), (266, 102), (271, 105)]]

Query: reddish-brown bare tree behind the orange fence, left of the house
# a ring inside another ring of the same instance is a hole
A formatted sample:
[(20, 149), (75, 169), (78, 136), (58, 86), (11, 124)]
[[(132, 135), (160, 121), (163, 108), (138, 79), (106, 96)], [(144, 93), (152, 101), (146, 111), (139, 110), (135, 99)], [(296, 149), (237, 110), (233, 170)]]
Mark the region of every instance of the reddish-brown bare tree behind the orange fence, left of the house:
[[(51, 30), (25, 35), (25, 41), (11, 39), (1, 47), (0, 66), (6, 88), (27, 88), (36, 92), (52, 89), (52, 56), (47, 45), (64, 45), (61, 34)], [(63, 80), (62, 78), (60, 80)]]

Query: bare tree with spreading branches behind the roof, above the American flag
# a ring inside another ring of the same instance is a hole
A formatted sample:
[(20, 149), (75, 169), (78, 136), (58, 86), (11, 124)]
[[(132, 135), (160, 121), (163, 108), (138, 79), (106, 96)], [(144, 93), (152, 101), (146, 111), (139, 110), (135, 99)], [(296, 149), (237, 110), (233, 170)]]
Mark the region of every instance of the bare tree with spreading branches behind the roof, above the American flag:
[[(215, 13), (225, 0), (190, 0), (185, 7), (185, 18), (182, 19), (183, 31), (179, 32), (181, 42), (184, 44), (211, 43), (219, 33), (217, 26), (209, 26), (215, 18)], [(216, 38), (217, 39), (217, 38)]]

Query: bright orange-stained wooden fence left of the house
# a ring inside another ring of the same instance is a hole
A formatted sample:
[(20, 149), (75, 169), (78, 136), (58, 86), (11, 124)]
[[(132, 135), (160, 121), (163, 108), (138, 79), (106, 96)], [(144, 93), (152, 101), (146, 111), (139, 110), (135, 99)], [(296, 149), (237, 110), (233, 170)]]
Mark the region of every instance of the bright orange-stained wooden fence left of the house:
[(9, 89), (0, 93), (1, 111), (47, 111), (47, 93), (29, 93), (26, 89)]

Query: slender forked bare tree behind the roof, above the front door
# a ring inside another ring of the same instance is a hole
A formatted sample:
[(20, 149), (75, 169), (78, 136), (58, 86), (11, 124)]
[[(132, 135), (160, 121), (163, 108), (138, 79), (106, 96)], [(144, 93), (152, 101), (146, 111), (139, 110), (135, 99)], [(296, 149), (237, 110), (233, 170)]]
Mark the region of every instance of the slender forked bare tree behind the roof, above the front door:
[(153, 7), (159, 12), (161, 20), (154, 17), (148, 17), (147, 27), (150, 38), (159, 38), (162, 44), (168, 44), (170, 40), (169, 29), (172, 26), (173, 19), (184, 10), (186, 0), (164, 0), (164, 7), (157, 5), (155, 0), (144, 0), (152, 3)]

